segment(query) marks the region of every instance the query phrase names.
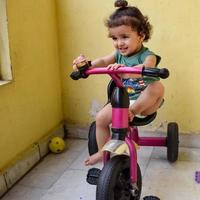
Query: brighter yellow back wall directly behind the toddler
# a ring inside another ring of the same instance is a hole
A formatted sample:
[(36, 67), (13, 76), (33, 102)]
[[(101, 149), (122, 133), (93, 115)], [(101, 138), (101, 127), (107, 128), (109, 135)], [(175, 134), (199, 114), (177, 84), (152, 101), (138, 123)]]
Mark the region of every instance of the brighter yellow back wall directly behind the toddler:
[[(87, 124), (92, 102), (105, 102), (108, 78), (90, 77), (72, 81), (68, 77), (71, 63), (80, 53), (94, 59), (111, 52), (103, 20), (113, 8), (114, 0), (58, 0), (59, 45), (61, 55), (64, 113), (68, 123)], [(147, 44), (162, 56), (160, 66), (171, 76), (166, 86), (165, 105), (159, 111), (157, 123), (176, 121), (181, 132), (200, 133), (200, 1), (134, 0), (150, 17), (154, 34)]]

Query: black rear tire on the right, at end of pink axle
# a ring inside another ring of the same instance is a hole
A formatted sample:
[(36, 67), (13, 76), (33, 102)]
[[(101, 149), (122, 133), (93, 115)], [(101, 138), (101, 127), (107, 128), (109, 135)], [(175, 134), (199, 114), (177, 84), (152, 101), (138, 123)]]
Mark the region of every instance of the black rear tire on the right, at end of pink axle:
[(167, 126), (167, 159), (169, 162), (175, 162), (178, 159), (179, 150), (179, 132), (178, 124), (171, 122)]

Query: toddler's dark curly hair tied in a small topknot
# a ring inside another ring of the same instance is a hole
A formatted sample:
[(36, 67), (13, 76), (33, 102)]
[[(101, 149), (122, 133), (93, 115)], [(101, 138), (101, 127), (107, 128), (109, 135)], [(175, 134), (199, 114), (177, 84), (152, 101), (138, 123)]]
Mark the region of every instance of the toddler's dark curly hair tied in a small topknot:
[(130, 26), (139, 35), (145, 36), (144, 41), (148, 41), (152, 32), (148, 17), (144, 16), (137, 7), (128, 6), (127, 1), (117, 0), (115, 6), (119, 8), (105, 21), (105, 25), (108, 28), (122, 25)]

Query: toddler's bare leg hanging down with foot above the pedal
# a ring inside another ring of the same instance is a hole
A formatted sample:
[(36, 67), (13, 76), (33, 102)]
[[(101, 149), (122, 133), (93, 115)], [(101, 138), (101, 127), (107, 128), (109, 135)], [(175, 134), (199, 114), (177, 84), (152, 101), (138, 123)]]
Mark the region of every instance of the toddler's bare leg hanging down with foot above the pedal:
[(112, 121), (112, 107), (111, 104), (107, 104), (97, 113), (96, 116), (96, 139), (99, 151), (88, 159), (85, 160), (85, 165), (94, 165), (103, 158), (103, 152), (101, 151), (104, 144), (110, 137), (109, 125)]

